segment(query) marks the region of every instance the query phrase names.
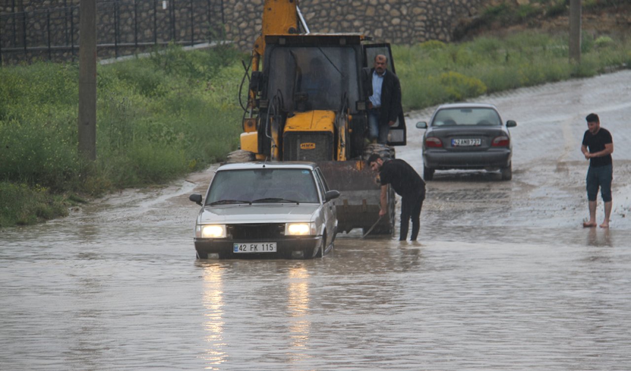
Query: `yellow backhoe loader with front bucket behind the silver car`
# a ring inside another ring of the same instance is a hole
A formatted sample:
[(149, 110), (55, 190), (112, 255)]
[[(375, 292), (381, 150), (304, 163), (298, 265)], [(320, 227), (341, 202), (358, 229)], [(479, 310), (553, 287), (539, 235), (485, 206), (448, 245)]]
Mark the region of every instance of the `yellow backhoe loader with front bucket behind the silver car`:
[(266, 0), (251, 71), (246, 68), (249, 93), (240, 151), (228, 161), (318, 163), (329, 187), (341, 192), (338, 232), (372, 227), (372, 234), (389, 234), (394, 191), (389, 192), (389, 213), (379, 219), (380, 186), (365, 159), (375, 152), (394, 157), (392, 146), (406, 144), (406, 127), (401, 113), (388, 146), (367, 140), (375, 55), (386, 55), (387, 68), (394, 72), (389, 44), (368, 41), (354, 33), (310, 33), (297, 0)]

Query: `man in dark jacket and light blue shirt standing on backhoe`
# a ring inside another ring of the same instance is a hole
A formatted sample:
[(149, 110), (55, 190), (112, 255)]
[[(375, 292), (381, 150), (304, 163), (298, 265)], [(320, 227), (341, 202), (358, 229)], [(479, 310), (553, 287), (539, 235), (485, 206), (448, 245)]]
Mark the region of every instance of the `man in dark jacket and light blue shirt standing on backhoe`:
[(396, 123), (401, 108), (401, 84), (394, 72), (387, 71), (386, 55), (375, 57), (372, 77), (372, 95), (369, 96), (368, 132), (369, 139), (379, 144), (387, 144), (388, 131)]

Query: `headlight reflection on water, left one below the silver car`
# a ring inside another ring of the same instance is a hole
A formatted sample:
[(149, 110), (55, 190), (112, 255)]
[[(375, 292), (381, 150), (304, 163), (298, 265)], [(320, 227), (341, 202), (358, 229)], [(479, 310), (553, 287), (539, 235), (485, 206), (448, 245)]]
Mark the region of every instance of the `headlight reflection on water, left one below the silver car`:
[(223, 339), (223, 326), (225, 324), (223, 302), (223, 267), (218, 264), (204, 266), (204, 290), (203, 304), (204, 340), (208, 343), (204, 359), (207, 370), (219, 370), (221, 363), (227, 361), (227, 353), (223, 349), (227, 346)]

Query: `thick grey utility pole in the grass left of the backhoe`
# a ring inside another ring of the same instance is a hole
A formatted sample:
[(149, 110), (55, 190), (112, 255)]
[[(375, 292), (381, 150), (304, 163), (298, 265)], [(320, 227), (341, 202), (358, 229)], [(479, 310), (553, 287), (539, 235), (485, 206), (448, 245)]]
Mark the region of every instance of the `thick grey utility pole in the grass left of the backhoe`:
[(97, 159), (97, 1), (79, 8), (79, 154)]

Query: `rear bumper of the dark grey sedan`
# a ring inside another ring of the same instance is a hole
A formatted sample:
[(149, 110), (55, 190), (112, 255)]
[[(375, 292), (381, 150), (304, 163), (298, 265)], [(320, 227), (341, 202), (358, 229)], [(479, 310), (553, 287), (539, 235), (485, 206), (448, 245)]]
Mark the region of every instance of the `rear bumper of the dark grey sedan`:
[(430, 169), (505, 168), (510, 164), (510, 149), (490, 149), (480, 152), (425, 151), (423, 163)]

